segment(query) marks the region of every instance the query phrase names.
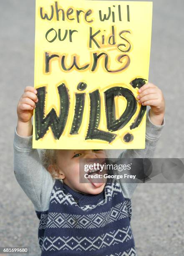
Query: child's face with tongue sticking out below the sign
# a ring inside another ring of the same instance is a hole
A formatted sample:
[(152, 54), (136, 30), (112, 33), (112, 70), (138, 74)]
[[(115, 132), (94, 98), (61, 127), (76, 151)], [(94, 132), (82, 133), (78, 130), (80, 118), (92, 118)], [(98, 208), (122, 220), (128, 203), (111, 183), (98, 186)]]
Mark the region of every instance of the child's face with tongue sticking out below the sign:
[[(93, 179), (84, 179), (84, 182), (86, 183), (80, 183), (79, 182), (79, 176), (84, 174), (87, 174), (88, 172), (85, 172), (82, 170), (79, 173), (79, 161), (80, 160), (87, 160), (87, 159), (96, 159), (98, 163), (101, 163), (106, 158), (106, 153), (104, 150), (65, 150), (60, 149), (57, 150), (57, 163), (56, 168), (58, 169), (58, 172), (60, 174), (60, 178), (63, 179), (63, 182), (68, 185), (71, 189), (82, 192), (85, 194), (99, 194), (103, 191), (103, 188), (106, 184), (106, 179), (103, 179), (103, 183), (94, 182)], [(91, 160), (91, 163), (88, 162), (88, 164), (92, 164), (93, 160)], [(105, 171), (101, 172), (103, 174)], [(88, 183), (87, 183), (88, 182)]]

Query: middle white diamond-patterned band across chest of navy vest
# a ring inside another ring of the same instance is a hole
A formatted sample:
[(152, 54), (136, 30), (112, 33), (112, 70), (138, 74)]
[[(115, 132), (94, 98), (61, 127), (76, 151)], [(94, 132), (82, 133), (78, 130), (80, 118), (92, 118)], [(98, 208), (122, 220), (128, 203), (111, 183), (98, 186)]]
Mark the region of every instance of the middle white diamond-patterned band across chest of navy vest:
[[(76, 215), (60, 212), (49, 212), (48, 215), (42, 214), (39, 229), (47, 228), (100, 228), (109, 223), (129, 217), (131, 207), (126, 201), (121, 202), (111, 208), (108, 212), (97, 214)], [(47, 218), (48, 217), (48, 218)]]

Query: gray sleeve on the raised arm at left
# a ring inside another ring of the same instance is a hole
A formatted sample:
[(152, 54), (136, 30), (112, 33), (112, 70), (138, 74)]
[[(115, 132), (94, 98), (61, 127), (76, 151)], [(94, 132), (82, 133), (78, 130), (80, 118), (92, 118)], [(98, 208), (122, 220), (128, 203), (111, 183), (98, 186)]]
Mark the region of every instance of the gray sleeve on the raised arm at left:
[(35, 210), (48, 210), (54, 179), (40, 162), (38, 150), (32, 148), (33, 136), (14, 133), (14, 174)]

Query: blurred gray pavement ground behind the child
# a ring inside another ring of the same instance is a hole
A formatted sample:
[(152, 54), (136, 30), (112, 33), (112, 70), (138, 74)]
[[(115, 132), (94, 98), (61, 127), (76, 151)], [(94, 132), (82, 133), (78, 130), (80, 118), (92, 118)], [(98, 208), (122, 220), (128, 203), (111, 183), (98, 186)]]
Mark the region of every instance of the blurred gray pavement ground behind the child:
[[(166, 127), (155, 157), (182, 158), (184, 1), (153, 2), (149, 80), (166, 99)], [(40, 255), (38, 219), (13, 174), (13, 133), (20, 95), (33, 85), (34, 15), (32, 0), (0, 1), (0, 246), (30, 246), (30, 256)], [(184, 184), (140, 184), (132, 204), (139, 256), (184, 255)]]

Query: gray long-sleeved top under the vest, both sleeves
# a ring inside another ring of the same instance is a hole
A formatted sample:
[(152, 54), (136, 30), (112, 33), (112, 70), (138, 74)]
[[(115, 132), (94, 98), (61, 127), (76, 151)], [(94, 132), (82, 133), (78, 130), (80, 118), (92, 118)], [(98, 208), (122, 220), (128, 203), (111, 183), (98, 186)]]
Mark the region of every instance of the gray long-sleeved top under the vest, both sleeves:
[[(146, 113), (146, 147), (145, 149), (128, 149), (119, 158), (152, 158), (161, 130), (165, 125), (154, 125)], [(33, 202), (35, 210), (46, 211), (49, 208), (50, 195), (55, 180), (40, 162), (38, 150), (32, 148), (33, 136), (19, 136), (14, 133), (14, 174), (25, 194)], [(124, 197), (131, 198), (136, 183), (120, 183)]]

